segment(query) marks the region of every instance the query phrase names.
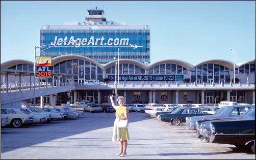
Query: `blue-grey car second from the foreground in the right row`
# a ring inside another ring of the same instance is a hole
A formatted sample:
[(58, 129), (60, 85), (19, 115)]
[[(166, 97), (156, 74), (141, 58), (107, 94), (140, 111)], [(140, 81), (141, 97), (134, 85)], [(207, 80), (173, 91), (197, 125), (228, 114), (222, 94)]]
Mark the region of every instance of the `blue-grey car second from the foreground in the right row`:
[[(220, 108), (220, 112), (219, 110), (217, 111), (218, 114), (217, 116), (205, 116), (202, 117), (200, 120), (196, 120), (196, 138), (202, 138), (206, 141), (209, 141), (209, 137), (208, 136), (204, 136), (204, 135), (209, 135), (209, 130), (210, 130), (210, 126), (209, 123), (205, 123), (207, 121), (210, 120), (219, 120), (219, 119), (232, 119), (234, 117), (237, 116), (242, 116), (243, 114), (245, 114), (245, 112), (247, 112), (251, 107), (253, 106), (225, 106)], [(216, 113), (217, 113), (216, 112)], [(202, 127), (203, 126), (203, 127)]]

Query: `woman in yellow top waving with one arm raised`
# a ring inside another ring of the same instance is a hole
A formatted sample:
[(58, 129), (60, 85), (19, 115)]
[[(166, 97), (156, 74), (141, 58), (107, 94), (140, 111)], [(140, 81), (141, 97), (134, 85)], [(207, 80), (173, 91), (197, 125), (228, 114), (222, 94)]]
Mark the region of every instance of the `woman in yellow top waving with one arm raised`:
[(114, 122), (114, 129), (113, 129), (113, 138), (112, 141), (119, 141), (120, 152), (117, 153), (117, 156), (125, 156), (126, 155), (126, 148), (127, 148), (127, 140), (130, 139), (128, 129), (127, 128), (119, 128), (117, 127), (117, 122), (119, 120), (126, 120), (129, 117), (129, 110), (124, 106), (124, 97), (119, 96), (117, 98), (117, 103), (119, 106), (116, 106), (113, 101), (113, 95), (111, 94), (110, 100), (112, 106), (116, 110), (116, 119)]

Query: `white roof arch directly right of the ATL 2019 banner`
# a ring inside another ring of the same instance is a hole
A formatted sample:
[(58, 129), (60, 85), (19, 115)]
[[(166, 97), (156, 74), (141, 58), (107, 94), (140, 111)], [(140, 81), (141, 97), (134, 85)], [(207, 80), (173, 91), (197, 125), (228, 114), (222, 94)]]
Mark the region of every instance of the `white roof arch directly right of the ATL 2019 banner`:
[(68, 54), (68, 55), (61, 55), (53, 58), (53, 66), (56, 65), (59, 62), (62, 62), (64, 60), (71, 60), (71, 59), (80, 59), (80, 60), (86, 60), (91, 63), (94, 63), (97, 67), (100, 69), (103, 69), (103, 66), (100, 65), (98, 62), (92, 60), (91, 58), (82, 56), (82, 55), (73, 55), (73, 54)]

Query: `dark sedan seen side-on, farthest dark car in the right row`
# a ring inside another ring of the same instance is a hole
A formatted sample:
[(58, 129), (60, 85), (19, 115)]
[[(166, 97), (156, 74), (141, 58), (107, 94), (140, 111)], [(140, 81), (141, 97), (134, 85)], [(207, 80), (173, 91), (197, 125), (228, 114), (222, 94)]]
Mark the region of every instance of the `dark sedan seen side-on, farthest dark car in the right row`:
[(173, 125), (180, 125), (182, 122), (186, 122), (186, 117), (198, 116), (198, 115), (212, 115), (204, 114), (199, 108), (191, 107), (179, 107), (175, 111), (169, 114), (161, 114), (161, 121), (171, 122)]

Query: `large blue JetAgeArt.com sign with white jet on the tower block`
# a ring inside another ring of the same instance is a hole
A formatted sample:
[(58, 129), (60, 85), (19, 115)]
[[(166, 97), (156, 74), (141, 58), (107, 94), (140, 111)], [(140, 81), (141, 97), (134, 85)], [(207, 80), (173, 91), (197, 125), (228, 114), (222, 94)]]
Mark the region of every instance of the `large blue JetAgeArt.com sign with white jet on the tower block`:
[(147, 52), (147, 33), (44, 33), (44, 44), (45, 52)]

